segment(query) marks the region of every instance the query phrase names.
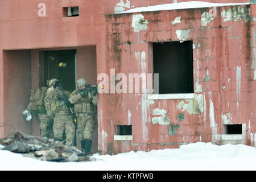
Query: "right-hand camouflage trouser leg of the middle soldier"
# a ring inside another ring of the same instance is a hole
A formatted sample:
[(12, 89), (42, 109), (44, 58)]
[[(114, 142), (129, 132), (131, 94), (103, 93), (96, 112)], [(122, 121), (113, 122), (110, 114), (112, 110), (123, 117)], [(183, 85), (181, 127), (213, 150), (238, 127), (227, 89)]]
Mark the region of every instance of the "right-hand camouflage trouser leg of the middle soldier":
[(75, 124), (71, 115), (65, 117), (65, 134), (66, 134), (66, 145), (73, 146), (75, 137)]

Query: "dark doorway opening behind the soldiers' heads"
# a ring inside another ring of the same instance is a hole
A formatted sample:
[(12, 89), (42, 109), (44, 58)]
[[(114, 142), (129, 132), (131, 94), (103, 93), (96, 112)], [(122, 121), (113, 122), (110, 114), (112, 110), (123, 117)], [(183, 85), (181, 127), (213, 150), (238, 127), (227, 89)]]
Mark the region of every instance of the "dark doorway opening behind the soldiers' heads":
[(44, 51), (44, 84), (47, 80), (57, 78), (64, 90), (75, 90), (76, 49)]

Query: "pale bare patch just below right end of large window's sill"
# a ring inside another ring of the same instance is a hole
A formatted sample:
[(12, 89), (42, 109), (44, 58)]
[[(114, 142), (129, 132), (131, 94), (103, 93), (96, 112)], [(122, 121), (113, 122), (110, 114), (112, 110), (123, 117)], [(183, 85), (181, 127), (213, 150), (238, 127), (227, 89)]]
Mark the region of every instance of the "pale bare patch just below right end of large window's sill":
[(181, 111), (187, 110), (188, 114), (201, 114), (204, 112), (204, 98), (203, 94), (195, 94), (195, 98), (191, 100), (180, 101), (177, 108)]

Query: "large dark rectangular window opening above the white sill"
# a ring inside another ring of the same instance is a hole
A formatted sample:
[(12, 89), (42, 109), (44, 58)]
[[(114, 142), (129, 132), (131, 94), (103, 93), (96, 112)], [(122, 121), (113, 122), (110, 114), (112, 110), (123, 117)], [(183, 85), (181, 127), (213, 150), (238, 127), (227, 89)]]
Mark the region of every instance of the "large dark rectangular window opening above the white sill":
[(153, 43), (153, 59), (159, 94), (194, 93), (192, 40)]

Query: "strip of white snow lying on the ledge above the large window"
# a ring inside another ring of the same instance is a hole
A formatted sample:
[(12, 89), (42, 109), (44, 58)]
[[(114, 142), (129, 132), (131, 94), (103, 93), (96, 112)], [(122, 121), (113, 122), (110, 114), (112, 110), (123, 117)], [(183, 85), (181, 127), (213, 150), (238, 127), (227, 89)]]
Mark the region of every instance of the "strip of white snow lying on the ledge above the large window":
[(217, 6), (237, 6), (237, 5), (249, 5), (249, 1), (247, 3), (210, 3), (210, 2), (204, 2), (204, 1), (188, 1), (188, 2), (169, 3), (164, 5), (155, 5), (155, 6), (147, 6), (147, 7), (136, 7), (134, 9), (118, 12), (115, 14), (137, 13), (137, 12), (144, 12), (144, 11), (195, 9), (195, 8), (202, 8), (202, 7), (217, 7)]

